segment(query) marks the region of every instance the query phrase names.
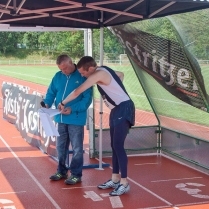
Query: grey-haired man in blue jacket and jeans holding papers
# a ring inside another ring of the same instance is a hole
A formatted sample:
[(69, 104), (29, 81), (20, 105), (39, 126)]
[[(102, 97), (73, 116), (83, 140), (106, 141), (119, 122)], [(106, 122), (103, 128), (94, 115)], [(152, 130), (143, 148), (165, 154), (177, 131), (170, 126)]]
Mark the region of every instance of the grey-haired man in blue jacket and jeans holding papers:
[[(56, 64), (60, 69), (48, 87), (44, 103), (46, 108), (53, 104), (58, 104), (71, 92), (78, 88), (86, 78), (78, 72), (76, 65), (68, 55), (60, 55)], [(87, 109), (92, 101), (92, 88), (87, 89), (79, 97), (67, 104), (65, 112), (54, 117), (58, 123), (57, 154), (58, 168), (50, 179), (57, 181), (68, 177), (66, 158), (68, 156), (69, 145), (72, 146), (72, 160), (70, 163), (71, 175), (65, 180), (66, 184), (76, 184), (81, 182), (83, 167), (83, 139), (84, 125), (86, 123)]]

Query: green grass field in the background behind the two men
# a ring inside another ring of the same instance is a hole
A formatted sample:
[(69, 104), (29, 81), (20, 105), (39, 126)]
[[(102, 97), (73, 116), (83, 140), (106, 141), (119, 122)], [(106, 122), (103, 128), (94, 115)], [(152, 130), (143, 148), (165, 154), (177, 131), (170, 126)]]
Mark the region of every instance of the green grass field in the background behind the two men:
[[(194, 122), (209, 126), (209, 114), (186, 104), (176, 98), (162, 86), (160, 86), (150, 75), (144, 74), (145, 89), (149, 96), (149, 101), (141, 87), (138, 78), (135, 75), (131, 65), (109, 65), (114, 70), (124, 72), (124, 84), (133, 99), (137, 109), (154, 111), (157, 115), (169, 116), (181, 120)], [(0, 65), (0, 74), (11, 76), (17, 79), (30, 81), (33, 83), (48, 86), (53, 75), (58, 71), (56, 66), (43, 65)], [(205, 80), (205, 87), (209, 92), (209, 66), (202, 66), (202, 74)], [(96, 89), (96, 88), (95, 88)], [(95, 97), (99, 97), (95, 90)], [(150, 103), (153, 108), (151, 108)]]

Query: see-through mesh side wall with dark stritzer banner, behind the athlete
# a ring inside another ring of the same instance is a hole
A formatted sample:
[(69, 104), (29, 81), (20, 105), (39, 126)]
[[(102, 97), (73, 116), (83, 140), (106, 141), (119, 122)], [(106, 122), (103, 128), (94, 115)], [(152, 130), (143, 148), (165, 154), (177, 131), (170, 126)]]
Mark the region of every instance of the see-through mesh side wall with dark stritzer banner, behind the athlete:
[[(136, 106), (136, 126), (127, 136), (127, 152), (161, 152), (209, 170), (209, 65), (207, 60), (197, 60), (196, 48), (188, 45), (187, 39), (189, 28), (194, 34), (195, 30), (204, 33), (208, 10), (197, 12), (195, 18), (201, 19), (200, 25), (184, 14), (113, 27), (131, 63), (108, 66), (124, 72), (125, 87)], [(170, 24), (170, 33), (156, 29), (165, 24)], [(98, 115), (102, 112), (99, 103), (95, 90), (96, 154)], [(104, 108), (102, 147), (103, 153), (110, 155), (108, 115)]]

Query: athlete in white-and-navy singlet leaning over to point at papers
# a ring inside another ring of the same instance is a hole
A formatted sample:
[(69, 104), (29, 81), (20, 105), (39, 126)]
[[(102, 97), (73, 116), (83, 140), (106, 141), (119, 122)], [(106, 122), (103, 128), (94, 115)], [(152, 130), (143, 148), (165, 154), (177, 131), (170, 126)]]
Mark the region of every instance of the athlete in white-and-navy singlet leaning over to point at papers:
[(58, 108), (65, 111), (68, 102), (97, 84), (104, 103), (111, 109), (109, 125), (113, 166), (111, 179), (98, 185), (98, 188), (113, 188), (110, 195), (122, 195), (130, 190), (127, 181), (128, 158), (124, 149), (124, 141), (129, 128), (135, 122), (134, 103), (122, 83), (124, 74), (106, 66), (97, 67), (95, 60), (90, 56), (82, 57), (77, 67), (80, 74), (87, 77), (87, 80), (62, 100)]

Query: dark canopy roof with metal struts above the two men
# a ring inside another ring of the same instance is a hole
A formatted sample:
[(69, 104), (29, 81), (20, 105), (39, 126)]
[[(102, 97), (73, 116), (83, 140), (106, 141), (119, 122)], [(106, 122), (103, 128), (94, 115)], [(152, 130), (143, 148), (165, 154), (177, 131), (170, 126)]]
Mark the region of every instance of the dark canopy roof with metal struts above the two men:
[(99, 28), (205, 8), (209, 0), (1, 0), (0, 24)]

